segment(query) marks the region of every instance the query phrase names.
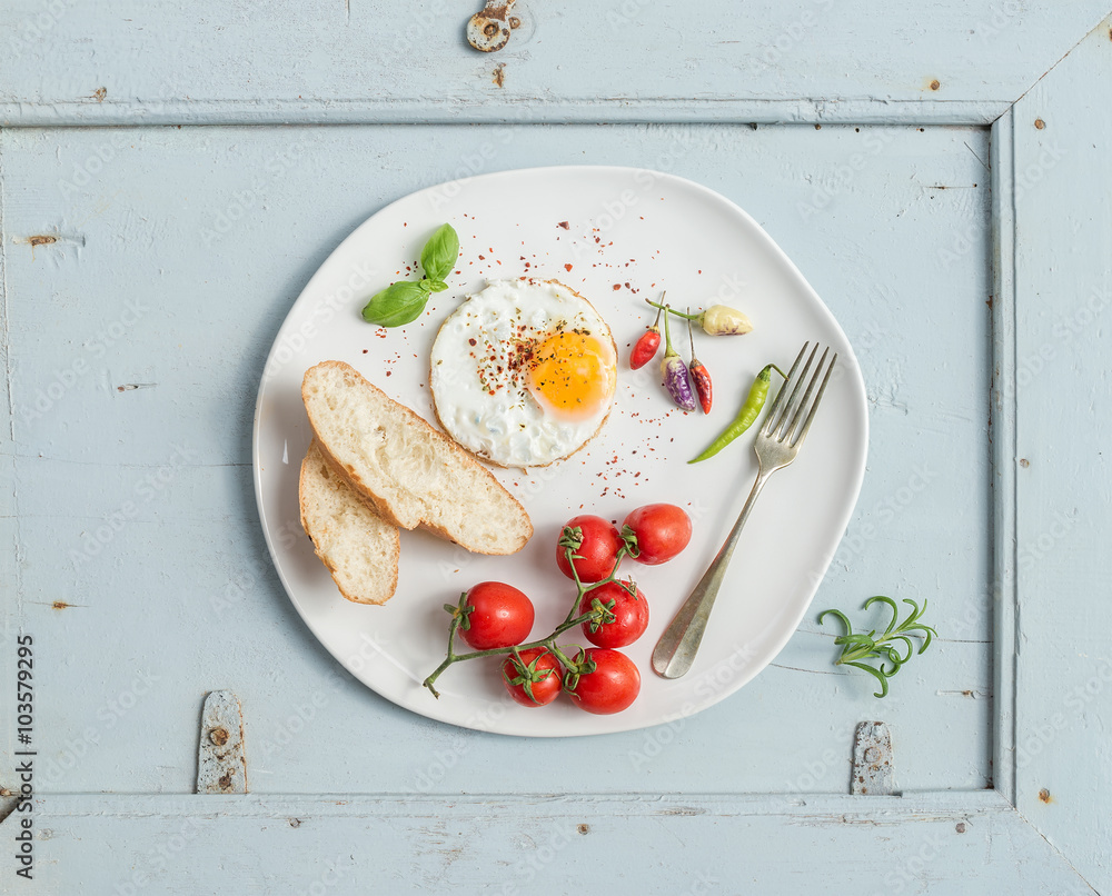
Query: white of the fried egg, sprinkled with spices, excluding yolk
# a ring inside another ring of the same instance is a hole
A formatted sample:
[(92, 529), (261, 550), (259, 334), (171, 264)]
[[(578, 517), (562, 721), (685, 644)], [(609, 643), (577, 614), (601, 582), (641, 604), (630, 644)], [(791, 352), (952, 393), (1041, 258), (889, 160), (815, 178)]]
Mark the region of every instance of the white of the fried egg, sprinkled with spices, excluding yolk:
[[(500, 352), (557, 329), (594, 336), (609, 356), (604, 358), (610, 375), (606, 401), (577, 419), (544, 407), (524, 375), (498, 364)], [(483, 364), (476, 355), (484, 355)], [(489, 355), (496, 360), (487, 360)], [(555, 280), (495, 280), (444, 321), (429, 367), (436, 415), (451, 438), (493, 464), (538, 467), (578, 450), (605, 422), (614, 400), (617, 350), (606, 321), (570, 288)], [(492, 388), (495, 395), (489, 395)]]

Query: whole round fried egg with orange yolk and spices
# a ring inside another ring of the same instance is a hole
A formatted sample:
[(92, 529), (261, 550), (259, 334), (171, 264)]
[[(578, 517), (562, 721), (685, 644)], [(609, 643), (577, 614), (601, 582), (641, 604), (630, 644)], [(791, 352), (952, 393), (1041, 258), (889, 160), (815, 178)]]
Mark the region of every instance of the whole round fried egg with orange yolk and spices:
[(469, 296), (433, 344), (429, 387), (451, 438), (504, 467), (582, 448), (617, 386), (609, 327), (556, 280), (497, 280)]

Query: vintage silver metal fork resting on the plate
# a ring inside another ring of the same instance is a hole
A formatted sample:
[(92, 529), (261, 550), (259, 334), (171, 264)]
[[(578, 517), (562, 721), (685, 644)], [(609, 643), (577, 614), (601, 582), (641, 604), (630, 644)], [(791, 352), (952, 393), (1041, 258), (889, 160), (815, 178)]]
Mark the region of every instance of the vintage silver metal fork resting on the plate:
[[(711, 618), (711, 610), (714, 608), (714, 599), (718, 596), (718, 588), (722, 587), (722, 580), (726, 576), (726, 566), (734, 554), (734, 548), (737, 547), (737, 539), (745, 526), (745, 520), (749, 518), (753, 505), (756, 504), (757, 495), (761, 494), (770, 476), (795, 460), (795, 456), (803, 446), (803, 440), (811, 430), (815, 411), (818, 410), (818, 402), (823, 400), (823, 392), (826, 391), (831, 371), (837, 361), (837, 352), (834, 352), (830, 365), (826, 366), (826, 374), (823, 375), (823, 365), (826, 364), (830, 348), (827, 347), (823, 351), (823, 357), (820, 358), (818, 366), (815, 367), (815, 372), (801, 398), (800, 388), (807, 378), (811, 365), (818, 352), (818, 344), (815, 342), (815, 347), (807, 357), (807, 362), (803, 366), (800, 376), (796, 377), (796, 371), (800, 369), (800, 364), (803, 361), (803, 356), (807, 354), (810, 345), (810, 341), (803, 344), (795, 364), (792, 365), (792, 369), (787, 374), (787, 380), (776, 394), (776, 400), (773, 401), (764, 425), (757, 431), (754, 445), (757, 455), (757, 478), (734, 528), (729, 531), (729, 537), (656, 643), (656, 648), (653, 650), (653, 669), (663, 678), (678, 678), (686, 674), (695, 661), (695, 654), (698, 651), (703, 633), (706, 631), (707, 619)], [(808, 405), (821, 375), (822, 384), (818, 386), (818, 392), (815, 395), (814, 402)], [(791, 388), (791, 397), (785, 401), (784, 396), (787, 395), (788, 388)], [(808, 407), (810, 410), (807, 410)], [(806, 416), (804, 416), (805, 410)]]

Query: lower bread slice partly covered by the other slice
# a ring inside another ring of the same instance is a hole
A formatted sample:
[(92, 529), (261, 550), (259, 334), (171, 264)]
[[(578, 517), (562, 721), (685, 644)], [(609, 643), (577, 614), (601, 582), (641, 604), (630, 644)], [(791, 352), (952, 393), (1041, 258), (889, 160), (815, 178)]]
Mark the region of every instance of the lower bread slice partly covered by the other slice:
[(398, 587), (398, 530), (381, 519), (332, 469), (314, 440), (298, 480), (301, 526), (340, 594), (385, 604)]

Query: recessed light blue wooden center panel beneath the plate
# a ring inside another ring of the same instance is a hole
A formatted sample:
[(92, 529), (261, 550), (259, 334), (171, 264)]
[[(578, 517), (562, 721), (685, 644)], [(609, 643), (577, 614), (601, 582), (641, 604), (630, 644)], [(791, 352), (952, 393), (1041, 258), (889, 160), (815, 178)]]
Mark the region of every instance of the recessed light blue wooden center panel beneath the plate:
[[(0, 140), (26, 551), (26, 610), (12, 624), (36, 634), (64, 683), (41, 710), (56, 744), (44, 793), (190, 790), (200, 701), (221, 687), (244, 701), (259, 792), (474, 792), (499, 767), (506, 790), (844, 793), (853, 727), (876, 713), (894, 733), (897, 787), (989, 784), (983, 130), (158, 128)], [(834, 629), (808, 620), (753, 686), (673, 726), (599, 743), (465, 734), (341, 677), (281, 593), (258, 531), (249, 431), (292, 297), (348, 230), (416, 187), (583, 158), (669, 170), (737, 200), (857, 347), (874, 445), (905, 449), (873, 452), (816, 611), (874, 591), (927, 597), (943, 634), (883, 704), (863, 676), (834, 669)], [(956, 451), (970, 462), (950, 464)], [(588, 780), (569, 778), (575, 766)]]

